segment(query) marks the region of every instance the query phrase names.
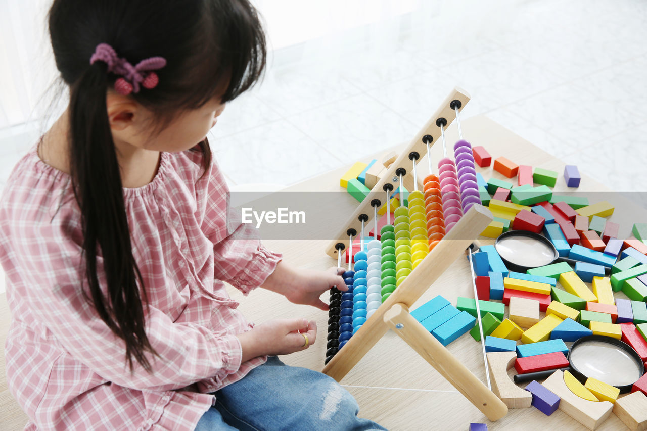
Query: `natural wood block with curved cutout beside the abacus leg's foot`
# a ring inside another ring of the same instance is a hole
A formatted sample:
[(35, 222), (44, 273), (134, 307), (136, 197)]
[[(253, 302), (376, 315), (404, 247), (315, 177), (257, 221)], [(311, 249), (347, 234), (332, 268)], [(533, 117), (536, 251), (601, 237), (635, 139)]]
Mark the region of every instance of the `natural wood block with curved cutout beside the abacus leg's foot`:
[(528, 408), (532, 403), (530, 392), (521, 389), (508, 377), (508, 370), (517, 359), (513, 351), (495, 351), (487, 353), (487, 364), (490, 370), (492, 392), (508, 406), (508, 408)]

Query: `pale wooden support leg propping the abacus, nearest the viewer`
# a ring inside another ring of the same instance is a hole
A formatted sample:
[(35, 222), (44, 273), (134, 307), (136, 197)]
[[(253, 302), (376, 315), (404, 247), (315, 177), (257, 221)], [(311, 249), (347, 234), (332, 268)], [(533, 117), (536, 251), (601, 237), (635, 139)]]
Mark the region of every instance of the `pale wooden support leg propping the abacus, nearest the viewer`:
[(410, 314), (405, 304), (394, 304), (384, 313), (384, 323), (447, 379), (490, 421), (498, 421), (508, 408)]

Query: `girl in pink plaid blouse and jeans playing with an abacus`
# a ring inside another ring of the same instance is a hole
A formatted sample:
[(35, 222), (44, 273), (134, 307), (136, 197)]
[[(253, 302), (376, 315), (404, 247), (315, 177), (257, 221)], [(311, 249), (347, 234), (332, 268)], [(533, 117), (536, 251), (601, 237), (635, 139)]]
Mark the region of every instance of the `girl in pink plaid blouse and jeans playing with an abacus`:
[(268, 358), (308, 348), (314, 322), (254, 327), (223, 285), (321, 309), (344, 287), (228, 213), (205, 136), (265, 67), (254, 8), (56, 0), (49, 30), (69, 106), (0, 204), (6, 374), (26, 429), (384, 429), (329, 377)]

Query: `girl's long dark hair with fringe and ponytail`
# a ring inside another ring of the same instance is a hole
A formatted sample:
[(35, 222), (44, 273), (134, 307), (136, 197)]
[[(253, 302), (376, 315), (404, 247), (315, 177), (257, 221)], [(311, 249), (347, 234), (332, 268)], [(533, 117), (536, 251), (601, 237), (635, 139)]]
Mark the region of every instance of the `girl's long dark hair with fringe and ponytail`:
[[(90, 58), (100, 43), (111, 45), (133, 65), (164, 57), (166, 66), (155, 71), (157, 87), (131, 94), (163, 125), (214, 97), (228, 102), (252, 87), (265, 67), (263, 29), (247, 0), (54, 0), (49, 31), (56, 66), (70, 87), (69, 160), (91, 300), (105, 324), (124, 340), (131, 372), (133, 357), (151, 372), (144, 351), (157, 352), (144, 330), (140, 290), (147, 307), (148, 298), (133, 258), (106, 111), (107, 90), (118, 76), (107, 73), (103, 61), (91, 65)], [(206, 171), (208, 142), (196, 150), (203, 153)], [(99, 253), (105, 295), (97, 276)]]

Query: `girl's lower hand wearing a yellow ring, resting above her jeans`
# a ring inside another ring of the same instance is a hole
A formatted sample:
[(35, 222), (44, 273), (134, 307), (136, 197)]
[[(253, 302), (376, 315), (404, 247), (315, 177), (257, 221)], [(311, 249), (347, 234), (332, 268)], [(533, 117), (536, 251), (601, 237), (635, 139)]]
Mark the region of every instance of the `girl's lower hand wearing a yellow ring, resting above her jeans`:
[[(305, 337), (308, 345), (305, 345)], [(250, 331), (237, 335), (243, 349), (245, 362), (261, 355), (288, 355), (309, 348), (317, 339), (314, 320), (277, 319), (257, 325)]]

